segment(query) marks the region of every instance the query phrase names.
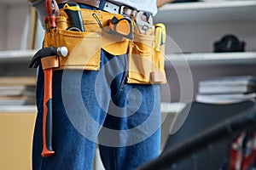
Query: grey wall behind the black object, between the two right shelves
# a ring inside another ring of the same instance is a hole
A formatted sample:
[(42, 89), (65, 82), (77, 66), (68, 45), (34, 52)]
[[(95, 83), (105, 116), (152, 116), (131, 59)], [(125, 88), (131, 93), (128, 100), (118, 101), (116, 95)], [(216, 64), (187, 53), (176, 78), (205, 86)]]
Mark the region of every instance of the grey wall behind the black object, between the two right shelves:
[[(177, 43), (183, 52), (212, 52), (213, 42), (225, 34), (234, 34), (245, 41), (247, 51), (255, 51), (256, 24), (254, 21), (184, 23), (170, 24), (166, 27), (167, 35)], [(172, 44), (166, 47), (166, 53), (177, 53)]]

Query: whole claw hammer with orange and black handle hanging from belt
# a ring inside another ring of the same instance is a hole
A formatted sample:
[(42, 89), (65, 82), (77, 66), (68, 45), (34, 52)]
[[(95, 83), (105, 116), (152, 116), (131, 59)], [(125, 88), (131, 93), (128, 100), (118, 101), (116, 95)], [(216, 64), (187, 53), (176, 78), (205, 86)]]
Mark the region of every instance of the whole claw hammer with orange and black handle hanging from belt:
[(52, 75), (53, 68), (59, 66), (57, 56), (67, 56), (67, 48), (42, 48), (32, 58), (29, 68), (37, 68), (40, 62), (44, 70), (44, 117), (43, 117), (43, 157), (55, 153), (52, 149)]

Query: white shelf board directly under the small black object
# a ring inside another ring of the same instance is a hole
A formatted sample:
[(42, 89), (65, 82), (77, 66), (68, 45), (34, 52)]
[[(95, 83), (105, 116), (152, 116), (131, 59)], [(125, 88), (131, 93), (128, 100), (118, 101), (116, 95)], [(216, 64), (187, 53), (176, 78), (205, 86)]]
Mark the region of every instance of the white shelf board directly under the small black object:
[(166, 54), (167, 65), (256, 64), (256, 52)]

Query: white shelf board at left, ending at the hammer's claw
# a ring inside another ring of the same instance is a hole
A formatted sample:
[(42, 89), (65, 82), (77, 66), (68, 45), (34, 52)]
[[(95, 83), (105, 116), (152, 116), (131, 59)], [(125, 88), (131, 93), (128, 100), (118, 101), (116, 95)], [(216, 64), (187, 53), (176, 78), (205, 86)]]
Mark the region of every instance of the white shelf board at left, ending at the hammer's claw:
[(29, 62), (38, 50), (7, 50), (0, 52), (0, 63)]

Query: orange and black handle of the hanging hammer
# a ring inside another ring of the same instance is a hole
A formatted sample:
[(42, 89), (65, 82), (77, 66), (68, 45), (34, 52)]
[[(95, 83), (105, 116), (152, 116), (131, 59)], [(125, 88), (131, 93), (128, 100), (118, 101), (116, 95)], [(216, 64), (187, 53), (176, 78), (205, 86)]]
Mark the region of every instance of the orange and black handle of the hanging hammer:
[(51, 156), (55, 153), (52, 149), (52, 73), (53, 69), (44, 70), (44, 117), (43, 117), (43, 157)]

